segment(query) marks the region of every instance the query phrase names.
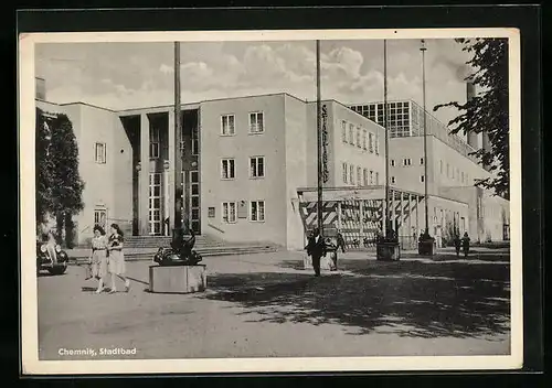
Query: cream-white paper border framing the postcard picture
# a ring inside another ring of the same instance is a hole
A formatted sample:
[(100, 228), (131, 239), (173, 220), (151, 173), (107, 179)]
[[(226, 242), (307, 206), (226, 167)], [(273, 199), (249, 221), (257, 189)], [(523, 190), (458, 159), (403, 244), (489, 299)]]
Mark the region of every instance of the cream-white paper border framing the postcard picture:
[[(463, 357), (39, 360), (35, 255), (34, 44), (68, 42), (298, 41), (508, 37), (510, 82), (511, 355)], [(522, 367), (521, 95), (517, 29), (286, 30), (221, 32), (33, 33), (19, 36), (22, 373), (30, 375), (516, 369)], [(24, 206), (22, 205), (24, 204)]]

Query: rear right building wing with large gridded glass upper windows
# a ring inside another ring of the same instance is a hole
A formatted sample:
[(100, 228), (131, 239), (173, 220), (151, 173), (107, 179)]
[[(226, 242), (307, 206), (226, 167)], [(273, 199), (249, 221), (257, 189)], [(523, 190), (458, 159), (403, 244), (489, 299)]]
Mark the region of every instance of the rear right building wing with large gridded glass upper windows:
[[(473, 94), (473, 85), (467, 84), (467, 97)], [(350, 108), (384, 125), (383, 106), (369, 103)], [(427, 163), (429, 233), (439, 237), (457, 228), (478, 241), (509, 239), (509, 202), (475, 185), (478, 180), (491, 176), (473, 155), (479, 147), (488, 147), (485, 133), (468, 136), (465, 142), (412, 100), (389, 101), (388, 109), (391, 185), (424, 193), (424, 163)]]

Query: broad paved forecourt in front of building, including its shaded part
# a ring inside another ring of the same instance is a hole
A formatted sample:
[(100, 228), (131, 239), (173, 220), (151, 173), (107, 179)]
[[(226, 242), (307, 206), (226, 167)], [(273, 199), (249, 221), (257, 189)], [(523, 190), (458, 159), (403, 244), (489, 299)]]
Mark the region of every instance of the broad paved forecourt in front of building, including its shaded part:
[[(210, 257), (208, 291), (152, 294), (149, 261), (127, 263), (129, 293), (95, 294), (84, 268), (39, 278), (41, 359), (506, 355), (507, 250), (470, 260), (341, 255), (314, 278), (302, 254)], [(118, 285), (123, 290), (123, 284)], [(60, 349), (136, 348), (61, 356)]]

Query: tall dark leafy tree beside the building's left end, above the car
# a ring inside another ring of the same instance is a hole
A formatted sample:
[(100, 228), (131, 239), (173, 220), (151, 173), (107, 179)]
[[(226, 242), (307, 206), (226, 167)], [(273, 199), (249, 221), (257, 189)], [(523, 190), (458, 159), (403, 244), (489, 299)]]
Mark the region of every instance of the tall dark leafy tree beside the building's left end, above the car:
[(65, 227), (65, 241), (73, 240), (73, 215), (84, 207), (84, 182), (78, 173), (78, 147), (66, 115), (46, 120), (36, 109), (36, 220), (55, 217), (57, 238)]

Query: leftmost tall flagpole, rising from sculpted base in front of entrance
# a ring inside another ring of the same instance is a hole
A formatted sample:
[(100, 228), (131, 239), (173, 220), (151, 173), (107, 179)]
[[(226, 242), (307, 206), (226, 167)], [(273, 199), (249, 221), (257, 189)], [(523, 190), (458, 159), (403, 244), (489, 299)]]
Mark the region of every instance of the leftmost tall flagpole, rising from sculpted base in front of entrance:
[(174, 229), (182, 228), (182, 140), (180, 107), (180, 42), (174, 42)]

